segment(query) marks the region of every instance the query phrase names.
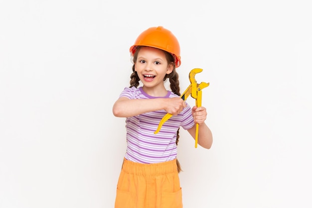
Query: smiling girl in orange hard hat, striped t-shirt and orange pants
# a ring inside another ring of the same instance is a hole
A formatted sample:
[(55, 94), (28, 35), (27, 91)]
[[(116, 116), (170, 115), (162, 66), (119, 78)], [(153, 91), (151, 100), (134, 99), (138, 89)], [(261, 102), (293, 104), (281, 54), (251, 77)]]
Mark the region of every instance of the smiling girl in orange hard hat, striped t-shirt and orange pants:
[[(176, 159), (179, 127), (209, 149), (212, 134), (204, 123), (206, 108), (184, 102), (178, 74), (180, 46), (176, 37), (158, 26), (142, 32), (131, 46), (133, 73), (113, 106), (117, 117), (126, 117), (127, 151), (117, 184), (115, 208), (182, 208), (182, 192)], [(171, 91), (164, 81), (169, 79)], [(139, 81), (143, 86), (138, 88)], [(161, 118), (172, 114), (155, 134)]]

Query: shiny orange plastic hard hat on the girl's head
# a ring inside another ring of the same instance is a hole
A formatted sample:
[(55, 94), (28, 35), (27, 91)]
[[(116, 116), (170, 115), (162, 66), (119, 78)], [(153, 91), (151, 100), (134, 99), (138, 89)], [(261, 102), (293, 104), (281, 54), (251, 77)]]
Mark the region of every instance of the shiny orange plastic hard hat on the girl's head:
[(175, 68), (181, 65), (180, 45), (176, 37), (162, 26), (150, 27), (143, 31), (135, 44), (130, 47), (130, 53), (136, 52), (138, 46), (150, 46), (169, 52), (174, 57)]

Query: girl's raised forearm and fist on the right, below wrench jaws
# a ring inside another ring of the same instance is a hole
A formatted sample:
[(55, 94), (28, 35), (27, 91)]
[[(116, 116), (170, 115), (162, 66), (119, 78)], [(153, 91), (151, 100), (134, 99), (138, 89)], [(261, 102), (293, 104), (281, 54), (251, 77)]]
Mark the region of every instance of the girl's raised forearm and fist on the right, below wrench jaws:
[(205, 124), (207, 116), (206, 108), (203, 106), (194, 106), (192, 108), (192, 115), (195, 125), (187, 131), (195, 139), (196, 123), (198, 123), (198, 144), (203, 148), (210, 149), (212, 145), (212, 133), (209, 127)]

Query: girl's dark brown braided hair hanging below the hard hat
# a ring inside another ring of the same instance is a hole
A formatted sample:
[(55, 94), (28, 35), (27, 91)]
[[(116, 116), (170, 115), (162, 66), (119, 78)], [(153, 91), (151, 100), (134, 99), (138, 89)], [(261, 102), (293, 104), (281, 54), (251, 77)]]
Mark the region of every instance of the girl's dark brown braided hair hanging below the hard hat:
[[(133, 73), (130, 76), (130, 78), (131, 78), (131, 80), (130, 80), (130, 87), (136, 87), (137, 88), (139, 86), (139, 84), (140, 84), (139, 83), (140, 78), (138, 76), (138, 73), (135, 71), (135, 63), (137, 62), (138, 53), (139, 53), (139, 51), (140, 51), (140, 49), (142, 47), (146, 47), (146, 46), (138, 46), (136, 52), (133, 55), (133, 63), (134, 64), (133, 64), (133, 67), (132, 67)], [(164, 78), (163, 78), (163, 81), (166, 81), (166, 79), (169, 79), (171, 91), (175, 95), (180, 96), (181, 94), (180, 94), (179, 75), (178, 75), (178, 73), (175, 70), (174, 57), (170, 53), (168, 53), (167, 51), (163, 51), (163, 52), (164, 52), (164, 54), (166, 56), (167, 63), (173, 65), (172, 72), (170, 74), (166, 74), (164, 76)], [(176, 141), (175, 141), (175, 144), (177, 145), (178, 142), (179, 142), (179, 128), (176, 131)], [(179, 173), (182, 169), (181, 169), (181, 166), (180, 166), (180, 163), (179, 163), (178, 160), (176, 160), (176, 165), (177, 165), (177, 170), (178, 170), (178, 173)]]

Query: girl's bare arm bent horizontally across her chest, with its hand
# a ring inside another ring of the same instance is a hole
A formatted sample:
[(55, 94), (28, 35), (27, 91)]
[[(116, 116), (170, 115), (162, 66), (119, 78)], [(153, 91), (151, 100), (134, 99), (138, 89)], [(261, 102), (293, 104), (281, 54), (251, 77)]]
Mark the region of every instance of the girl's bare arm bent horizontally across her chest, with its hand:
[(121, 97), (113, 105), (113, 114), (116, 117), (131, 117), (164, 109), (167, 113), (176, 115), (185, 106), (185, 102), (179, 97), (155, 99), (128, 99)]

